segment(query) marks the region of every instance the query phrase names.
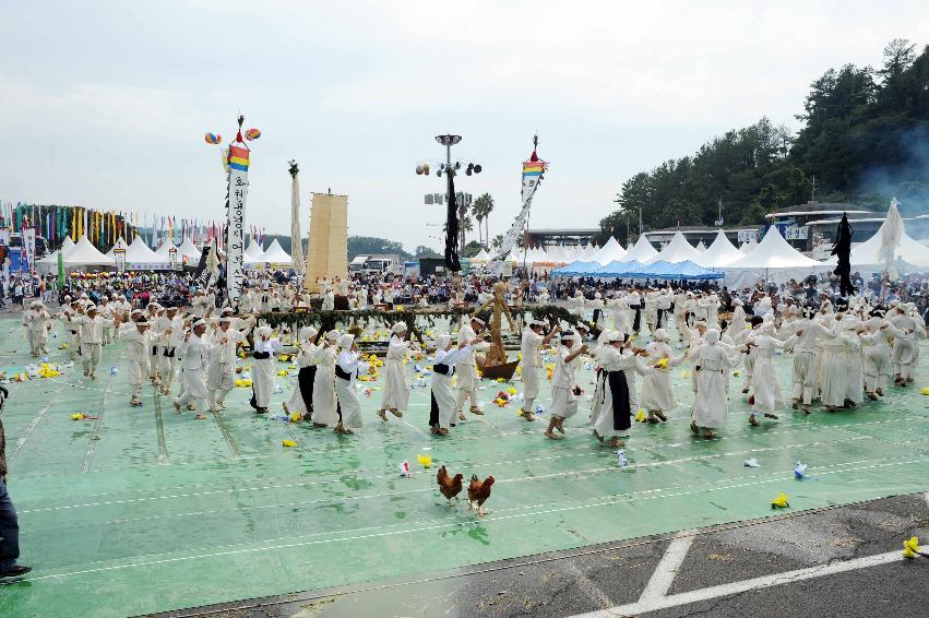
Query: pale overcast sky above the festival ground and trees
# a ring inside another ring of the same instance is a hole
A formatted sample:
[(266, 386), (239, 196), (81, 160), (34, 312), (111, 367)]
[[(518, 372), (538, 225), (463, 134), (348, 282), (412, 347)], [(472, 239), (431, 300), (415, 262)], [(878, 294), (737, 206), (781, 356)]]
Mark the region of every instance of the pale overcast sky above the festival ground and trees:
[(248, 224), (289, 234), (300, 165), (348, 195), (348, 233), (441, 247), (417, 176), (463, 136), (457, 188), (520, 207), (521, 162), (550, 162), (531, 226), (596, 227), (622, 182), (767, 116), (799, 128), (809, 84), (929, 44), (929, 3), (14, 2), (0, 0), (0, 200), (223, 217), (207, 131), (252, 142)]

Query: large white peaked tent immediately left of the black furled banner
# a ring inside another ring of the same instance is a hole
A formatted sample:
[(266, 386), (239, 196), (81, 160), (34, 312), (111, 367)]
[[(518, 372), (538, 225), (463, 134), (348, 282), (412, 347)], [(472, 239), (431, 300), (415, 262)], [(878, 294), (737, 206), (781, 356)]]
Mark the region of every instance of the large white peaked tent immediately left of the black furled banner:
[(753, 285), (762, 278), (770, 283), (785, 283), (791, 278), (801, 281), (830, 269), (829, 264), (807, 258), (790, 247), (777, 227), (772, 225), (751, 253), (719, 270), (726, 273), (726, 283), (738, 288)]

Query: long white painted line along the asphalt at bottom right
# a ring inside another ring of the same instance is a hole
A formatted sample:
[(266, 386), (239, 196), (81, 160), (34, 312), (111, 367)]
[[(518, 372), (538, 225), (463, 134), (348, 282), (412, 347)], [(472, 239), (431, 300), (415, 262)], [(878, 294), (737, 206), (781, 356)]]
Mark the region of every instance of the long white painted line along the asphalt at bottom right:
[(681, 605), (700, 603), (702, 601), (718, 598), (720, 596), (741, 594), (751, 590), (789, 584), (794, 582), (801, 582), (805, 580), (834, 575), (836, 573), (845, 573), (848, 571), (857, 571), (859, 569), (868, 569), (870, 567), (889, 564), (891, 562), (898, 562), (903, 559), (904, 558), (902, 551), (888, 551), (886, 554), (878, 554), (877, 556), (855, 558), (842, 562), (830, 562), (827, 564), (820, 564), (818, 567), (797, 569), (796, 571), (786, 571), (784, 573), (777, 573), (774, 575), (764, 575), (761, 578), (753, 578), (751, 580), (743, 580), (740, 582), (731, 582), (718, 586), (710, 586), (701, 590), (682, 592), (679, 594), (672, 594), (670, 596), (648, 599), (642, 598), (636, 603), (619, 605), (616, 607), (610, 607), (609, 609), (589, 611), (587, 614), (579, 614), (576, 616), (573, 616), (572, 618), (617, 618), (617, 616), (635, 616), (639, 614), (646, 614), (648, 611), (656, 611), (658, 609), (667, 609), (669, 607), (680, 607)]

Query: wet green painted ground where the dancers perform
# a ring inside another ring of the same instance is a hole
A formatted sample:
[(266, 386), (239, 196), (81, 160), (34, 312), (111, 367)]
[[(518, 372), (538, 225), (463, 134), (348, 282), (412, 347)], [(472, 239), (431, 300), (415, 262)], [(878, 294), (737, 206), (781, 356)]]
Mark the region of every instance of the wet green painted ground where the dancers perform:
[[(10, 372), (29, 360), (14, 325), (0, 329)], [(106, 348), (104, 367), (122, 367), (121, 353)], [(788, 364), (779, 365), (786, 389)], [(73, 368), (10, 385), (10, 494), (23, 562), (35, 570), (0, 591), (2, 616), (126, 616), (412, 575), (765, 516), (779, 491), (793, 509), (811, 509), (929, 489), (925, 369), (915, 388), (891, 389), (879, 404), (786, 412), (755, 429), (736, 395), (713, 441), (691, 438), (689, 380), (678, 371), (682, 405), (666, 425), (635, 425), (626, 470), (581, 428), (585, 414), (568, 424), (565, 440), (550, 442), (543, 423), (516, 417), (515, 404), (487, 403), (484, 418), (441, 440), (426, 426), (427, 389), (415, 389), (410, 411), (389, 424), (374, 415), (374, 391), (361, 394), (365, 428), (337, 438), (257, 417), (247, 389), (211, 420), (177, 416), (151, 389), (144, 407), (131, 408), (124, 370), (102, 373), (98, 383)], [(274, 409), (289, 397), (289, 380)], [(740, 383), (733, 379), (734, 393)], [(502, 387), (486, 383), (485, 401)], [(99, 419), (74, 421), (74, 412)], [(287, 438), (298, 447), (283, 448)], [(419, 453), (466, 477), (495, 475), (491, 513), (477, 520), (466, 506), (444, 506), (434, 468), (415, 463)], [(745, 467), (750, 456), (761, 467)], [(797, 459), (815, 479), (794, 479)], [(404, 460), (413, 478), (398, 475)]]

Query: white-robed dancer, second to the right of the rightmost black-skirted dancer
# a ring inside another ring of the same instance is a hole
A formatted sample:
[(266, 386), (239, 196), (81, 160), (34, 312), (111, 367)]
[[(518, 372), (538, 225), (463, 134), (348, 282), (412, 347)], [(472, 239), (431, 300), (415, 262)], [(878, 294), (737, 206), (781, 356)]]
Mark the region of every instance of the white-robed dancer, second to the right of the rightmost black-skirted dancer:
[(739, 364), (739, 356), (730, 358), (719, 345), (719, 331), (710, 329), (704, 336), (705, 343), (694, 347), (689, 354), (696, 371), (696, 397), (693, 401), (693, 420), (690, 430), (704, 438), (714, 438), (714, 429), (726, 425), (729, 415), (729, 397), (723, 381), (723, 376), (730, 367)]

